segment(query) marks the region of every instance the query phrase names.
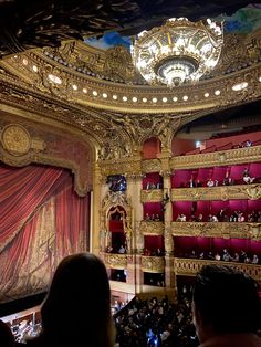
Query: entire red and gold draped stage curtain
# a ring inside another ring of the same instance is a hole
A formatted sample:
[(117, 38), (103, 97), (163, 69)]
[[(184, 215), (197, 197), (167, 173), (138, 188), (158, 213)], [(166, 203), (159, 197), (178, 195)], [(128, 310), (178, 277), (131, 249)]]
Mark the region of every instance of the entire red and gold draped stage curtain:
[(0, 202), (0, 302), (46, 290), (63, 256), (88, 249), (90, 199), (67, 170), (2, 166)]

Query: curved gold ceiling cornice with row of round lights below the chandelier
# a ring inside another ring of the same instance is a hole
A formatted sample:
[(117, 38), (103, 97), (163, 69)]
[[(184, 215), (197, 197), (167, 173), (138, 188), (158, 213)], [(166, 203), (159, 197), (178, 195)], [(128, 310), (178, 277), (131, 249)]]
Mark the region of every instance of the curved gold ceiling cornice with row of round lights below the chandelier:
[[(84, 107), (137, 114), (210, 111), (260, 97), (259, 36), (260, 29), (248, 35), (227, 34), (220, 63), (210, 78), (197, 85), (177, 87), (175, 93), (164, 86), (144, 84), (134, 70), (129, 53), (118, 46), (103, 51), (77, 41), (63, 42), (59, 49), (45, 48), (4, 59), (0, 67), (28, 84), (33, 83), (39, 91), (59, 95)], [(243, 63), (247, 66), (242, 67)], [(62, 84), (50, 82), (49, 74), (58, 75)], [(234, 92), (232, 85), (242, 81), (248, 82), (248, 88)], [(220, 91), (220, 94), (216, 91)], [(117, 98), (113, 98), (113, 95), (117, 95)], [(188, 99), (184, 99), (185, 95)]]

